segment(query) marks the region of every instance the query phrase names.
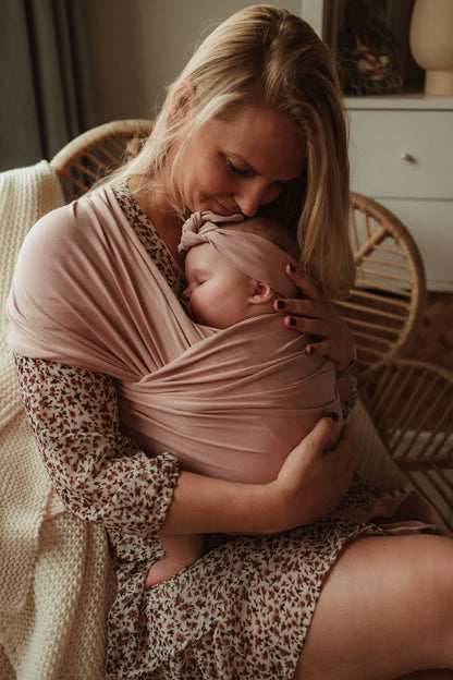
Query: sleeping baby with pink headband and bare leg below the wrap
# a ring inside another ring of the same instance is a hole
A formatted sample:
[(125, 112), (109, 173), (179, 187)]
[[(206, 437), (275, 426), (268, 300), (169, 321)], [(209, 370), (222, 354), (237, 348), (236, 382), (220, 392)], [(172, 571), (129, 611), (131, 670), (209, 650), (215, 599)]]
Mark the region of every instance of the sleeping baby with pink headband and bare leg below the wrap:
[[(241, 220), (241, 215), (225, 218), (195, 212), (183, 227), (179, 250), (186, 252), (187, 288), (182, 299), (197, 324), (225, 329), (244, 319), (274, 314), (278, 298), (297, 296), (286, 267), (297, 267), (298, 248), (287, 228), (262, 217)], [(219, 227), (220, 222), (232, 223)], [(334, 380), (332, 369), (329, 393), (335, 391)], [(161, 535), (160, 543), (167, 556), (150, 569), (146, 587), (170, 579), (203, 554), (200, 535)]]

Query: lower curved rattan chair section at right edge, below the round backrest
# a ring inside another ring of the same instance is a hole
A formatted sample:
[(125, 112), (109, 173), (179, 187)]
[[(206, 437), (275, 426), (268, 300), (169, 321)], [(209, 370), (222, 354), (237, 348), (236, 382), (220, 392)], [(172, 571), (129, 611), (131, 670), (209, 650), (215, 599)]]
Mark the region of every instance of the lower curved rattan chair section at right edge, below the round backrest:
[(363, 397), (389, 453), (453, 527), (453, 374), (411, 360), (383, 360)]

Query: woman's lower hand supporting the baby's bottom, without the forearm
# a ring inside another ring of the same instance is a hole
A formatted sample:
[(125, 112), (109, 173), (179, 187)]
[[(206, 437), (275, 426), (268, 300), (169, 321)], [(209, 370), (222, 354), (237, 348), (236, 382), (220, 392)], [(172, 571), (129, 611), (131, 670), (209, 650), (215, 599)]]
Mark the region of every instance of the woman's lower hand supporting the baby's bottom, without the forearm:
[(345, 425), (334, 449), (325, 451), (334, 421), (321, 418), (283, 463), (271, 483), (277, 513), (273, 531), (285, 531), (326, 517), (344, 498), (354, 473), (352, 433)]

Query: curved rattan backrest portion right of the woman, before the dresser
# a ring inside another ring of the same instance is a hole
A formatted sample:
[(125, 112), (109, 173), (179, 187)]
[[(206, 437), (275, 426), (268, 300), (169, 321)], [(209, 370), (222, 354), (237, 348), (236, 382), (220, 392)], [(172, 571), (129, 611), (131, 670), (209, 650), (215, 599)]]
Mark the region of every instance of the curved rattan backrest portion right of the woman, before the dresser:
[(351, 239), (357, 277), (338, 307), (355, 338), (362, 369), (382, 356), (400, 356), (415, 339), (425, 313), (420, 253), (402, 222), (382, 205), (351, 194)]

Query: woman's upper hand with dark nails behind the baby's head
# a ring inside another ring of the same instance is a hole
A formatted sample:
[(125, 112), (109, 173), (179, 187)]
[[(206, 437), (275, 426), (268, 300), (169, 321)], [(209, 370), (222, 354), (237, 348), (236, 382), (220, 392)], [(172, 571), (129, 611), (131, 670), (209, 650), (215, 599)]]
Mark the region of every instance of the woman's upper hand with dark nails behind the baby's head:
[(315, 336), (316, 340), (305, 348), (307, 354), (327, 356), (333, 361), (336, 371), (343, 371), (354, 356), (354, 340), (345, 321), (321, 299), (301, 269), (292, 271), (287, 267), (286, 272), (302, 298), (276, 300), (274, 309), (284, 313), (284, 324), (290, 328)]

